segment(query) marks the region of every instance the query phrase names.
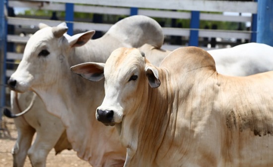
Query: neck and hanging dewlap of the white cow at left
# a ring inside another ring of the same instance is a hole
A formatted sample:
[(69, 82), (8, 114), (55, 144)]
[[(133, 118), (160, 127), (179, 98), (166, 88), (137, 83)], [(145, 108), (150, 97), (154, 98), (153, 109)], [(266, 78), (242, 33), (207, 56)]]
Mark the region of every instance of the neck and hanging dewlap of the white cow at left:
[[(90, 42), (90, 44), (94, 47), (97, 45), (96, 42)], [(86, 53), (90, 56), (83, 55)], [(112, 166), (124, 160), (125, 150), (122, 154), (115, 128), (106, 127), (95, 120), (96, 108), (104, 97), (104, 81), (90, 82), (69, 69), (72, 62), (81, 63), (90, 59), (104, 61), (108, 57), (102, 54), (92, 56), (94, 53), (97, 52), (90, 51), (86, 46), (70, 50), (68, 61), (62, 63), (61, 78), (58, 78), (57, 82), (46, 90), (38, 88), (34, 91), (42, 97), (47, 110), (62, 119), (67, 130), (68, 141), (79, 158), (89, 161), (93, 167), (101, 167), (102, 164)], [(106, 139), (107, 141), (103, 142)], [(109, 143), (109, 145), (98, 147), (94, 144), (97, 141), (102, 141), (102, 144)]]

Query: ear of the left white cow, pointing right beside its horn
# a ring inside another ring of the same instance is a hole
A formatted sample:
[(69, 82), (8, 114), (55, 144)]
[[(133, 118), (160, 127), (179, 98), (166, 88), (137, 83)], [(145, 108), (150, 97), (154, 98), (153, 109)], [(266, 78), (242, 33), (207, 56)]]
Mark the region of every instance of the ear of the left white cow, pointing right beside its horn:
[(86, 44), (95, 34), (95, 30), (79, 33), (68, 38), (70, 47), (80, 47)]

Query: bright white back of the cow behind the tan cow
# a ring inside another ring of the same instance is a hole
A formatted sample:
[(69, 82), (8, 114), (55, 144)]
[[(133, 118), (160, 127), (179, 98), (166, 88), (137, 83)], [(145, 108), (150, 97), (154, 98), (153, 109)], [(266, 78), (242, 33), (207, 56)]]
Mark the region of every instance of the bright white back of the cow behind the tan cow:
[(220, 74), (248, 76), (273, 70), (273, 47), (266, 44), (247, 43), (208, 53)]

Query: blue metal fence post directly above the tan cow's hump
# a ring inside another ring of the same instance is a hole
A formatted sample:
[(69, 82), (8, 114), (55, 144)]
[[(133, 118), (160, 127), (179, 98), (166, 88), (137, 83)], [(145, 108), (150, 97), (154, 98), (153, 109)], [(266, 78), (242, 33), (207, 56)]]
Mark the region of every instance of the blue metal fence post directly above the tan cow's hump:
[(198, 34), (199, 34), (199, 25), (200, 25), (200, 11), (192, 11), (191, 12), (191, 23), (190, 23), (190, 41), (189, 46), (198, 47)]

